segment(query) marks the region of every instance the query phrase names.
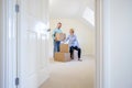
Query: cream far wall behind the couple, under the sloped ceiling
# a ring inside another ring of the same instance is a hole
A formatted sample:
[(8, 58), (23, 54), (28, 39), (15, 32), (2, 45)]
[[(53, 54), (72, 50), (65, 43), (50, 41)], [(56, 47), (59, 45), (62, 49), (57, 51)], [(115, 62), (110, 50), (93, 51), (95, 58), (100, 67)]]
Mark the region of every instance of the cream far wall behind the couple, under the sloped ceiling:
[[(63, 26), (62, 30), (64, 33), (69, 35), (69, 29), (75, 29), (75, 34), (79, 41), (82, 55), (95, 55), (95, 29), (88, 26), (84, 22), (75, 19), (51, 19), (51, 29), (52, 33), (53, 30), (56, 28), (57, 23), (62, 22)], [(51, 33), (51, 36), (52, 36)], [(51, 43), (53, 43), (53, 38), (51, 38)], [(51, 44), (53, 48), (53, 44)]]

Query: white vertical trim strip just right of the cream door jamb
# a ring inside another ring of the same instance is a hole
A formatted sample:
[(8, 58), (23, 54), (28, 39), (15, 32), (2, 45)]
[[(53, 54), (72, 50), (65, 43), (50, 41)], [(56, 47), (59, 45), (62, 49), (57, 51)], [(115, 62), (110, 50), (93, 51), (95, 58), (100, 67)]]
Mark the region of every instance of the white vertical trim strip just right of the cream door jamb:
[(103, 29), (103, 88), (111, 88), (110, 86), (110, 0), (103, 0), (103, 18), (102, 18), (102, 29)]

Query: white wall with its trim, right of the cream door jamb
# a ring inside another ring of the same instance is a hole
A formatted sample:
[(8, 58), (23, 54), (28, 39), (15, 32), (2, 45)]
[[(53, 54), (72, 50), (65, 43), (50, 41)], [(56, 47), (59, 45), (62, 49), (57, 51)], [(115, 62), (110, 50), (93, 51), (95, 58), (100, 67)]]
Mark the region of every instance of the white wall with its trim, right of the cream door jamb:
[(132, 0), (105, 0), (103, 7), (105, 88), (132, 88)]

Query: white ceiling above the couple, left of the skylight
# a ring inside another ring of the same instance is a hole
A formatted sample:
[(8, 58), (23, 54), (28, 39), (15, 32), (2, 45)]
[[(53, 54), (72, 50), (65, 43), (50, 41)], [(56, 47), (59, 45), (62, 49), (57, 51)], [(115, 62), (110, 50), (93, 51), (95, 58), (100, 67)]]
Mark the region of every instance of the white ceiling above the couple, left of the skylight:
[(50, 0), (50, 15), (53, 19), (81, 18), (87, 7), (95, 10), (95, 0)]

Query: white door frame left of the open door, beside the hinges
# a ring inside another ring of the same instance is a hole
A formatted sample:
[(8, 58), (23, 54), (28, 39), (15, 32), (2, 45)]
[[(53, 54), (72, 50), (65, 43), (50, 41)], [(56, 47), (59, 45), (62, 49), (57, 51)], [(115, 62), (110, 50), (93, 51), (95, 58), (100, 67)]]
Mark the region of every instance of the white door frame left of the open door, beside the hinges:
[[(1, 0), (1, 32), (0, 47), (0, 88), (16, 88), (16, 18), (15, 18), (16, 0)], [(1, 84), (2, 82), (2, 84)]]

